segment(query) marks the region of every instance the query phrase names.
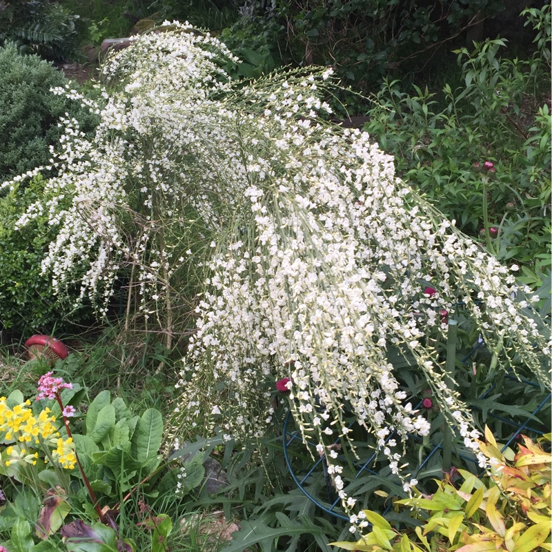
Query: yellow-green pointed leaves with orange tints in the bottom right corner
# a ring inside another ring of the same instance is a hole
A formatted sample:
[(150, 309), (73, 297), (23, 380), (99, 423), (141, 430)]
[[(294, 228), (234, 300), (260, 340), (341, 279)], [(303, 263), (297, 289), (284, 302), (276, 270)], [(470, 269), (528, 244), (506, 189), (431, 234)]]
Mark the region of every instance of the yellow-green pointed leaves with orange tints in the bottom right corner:
[(411, 529), (397, 531), (384, 517), (366, 510), (371, 532), (354, 543), (332, 544), (359, 552), (550, 550), (551, 454), (529, 437), (523, 437), (516, 455), (511, 449), (501, 452), (493, 434), (485, 433), (487, 442), (480, 442), (480, 450), (490, 462), (488, 475), (477, 478), (461, 470), (460, 488), (449, 477), (438, 482), (431, 496), (417, 493), (395, 502), (395, 507), (415, 508), (413, 524), (422, 524), (415, 526), (414, 534)]

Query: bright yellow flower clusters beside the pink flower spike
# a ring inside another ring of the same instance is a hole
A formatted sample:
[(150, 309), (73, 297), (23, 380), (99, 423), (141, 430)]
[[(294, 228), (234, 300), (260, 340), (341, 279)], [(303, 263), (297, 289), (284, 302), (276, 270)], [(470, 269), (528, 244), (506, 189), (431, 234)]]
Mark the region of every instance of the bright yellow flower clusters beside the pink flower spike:
[[(0, 397), (0, 439), (4, 442), (16, 442), (8, 446), (6, 466), (26, 462), (36, 464), (38, 453), (30, 452), (23, 446), (32, 446), (42, 443), (50, 443), (57, 446), (52, 451), (55, 458), (65, 469), (74, 469), (76, 456), (75, 445), (72, 439), (63, 440), (55, 425), (56, 417), (52, 415), (50, 408), (44, 408), (38, 416), (33, 415), (30, 401), (17, 404), (10, 408), (6, 403), (6, 397)], [(21, 443), (21, 445), (19, 445)]]

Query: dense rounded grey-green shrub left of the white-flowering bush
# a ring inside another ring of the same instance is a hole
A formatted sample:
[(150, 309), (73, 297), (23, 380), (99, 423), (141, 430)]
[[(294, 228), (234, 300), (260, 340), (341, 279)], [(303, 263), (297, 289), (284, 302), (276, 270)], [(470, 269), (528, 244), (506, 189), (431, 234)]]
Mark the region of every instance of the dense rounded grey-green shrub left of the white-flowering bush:
[(50, 92), (67, 83), (39, 57), (19, 55), (10, 43), (0, 48), (0, 182), (48, 164), (49, 147), (61, 136), (59, 118), (66, 113), (77, 117), (83, 130), (94, 126), (75, 101)]

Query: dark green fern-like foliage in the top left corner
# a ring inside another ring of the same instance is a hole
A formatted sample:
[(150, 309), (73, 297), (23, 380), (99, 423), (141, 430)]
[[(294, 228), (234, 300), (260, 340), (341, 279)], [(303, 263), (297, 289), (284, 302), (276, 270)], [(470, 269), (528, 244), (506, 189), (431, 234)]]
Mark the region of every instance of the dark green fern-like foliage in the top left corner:
[(0, 8), (0, 44), (12, 41), (21, 52), (52, 61), (75, 56), (79, 16), (61, 3), (12, 0)]

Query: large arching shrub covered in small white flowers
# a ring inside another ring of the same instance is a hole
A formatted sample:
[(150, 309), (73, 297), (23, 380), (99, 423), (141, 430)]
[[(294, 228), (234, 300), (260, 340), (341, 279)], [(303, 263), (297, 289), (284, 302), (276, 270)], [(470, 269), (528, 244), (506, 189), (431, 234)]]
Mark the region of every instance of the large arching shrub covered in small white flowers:
[(477, 449), (469, 411), (446, 384), (440, 311), (452, 319), (462, 302), (500, 366), (542, 382), (548, 344), (509, 268), (397, 179), (368, 135), (324, 122), (329, 72), (234, 83), (224, 70), (233, 61), (176, 24), (112, 57), (95, 139), (66, 121), (54, 199), (20, 224), (47, 212), (59, 228), (43, 262), (59, 290), (86, 265), (81, 295), (99, 296), (105, 311), (124, 271), (141, 312), (168, 334), (193, 303), (187, 280), (204, 275), (175, 432), (264, 435), (274, 382), (289, 377), (295, 422), (353, 506), (328, 445), (346, 442), (346, 412), (395, 474), (408, 435), (430, 431), (390, 348), (415, 357)]

